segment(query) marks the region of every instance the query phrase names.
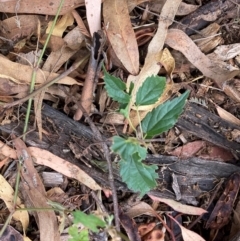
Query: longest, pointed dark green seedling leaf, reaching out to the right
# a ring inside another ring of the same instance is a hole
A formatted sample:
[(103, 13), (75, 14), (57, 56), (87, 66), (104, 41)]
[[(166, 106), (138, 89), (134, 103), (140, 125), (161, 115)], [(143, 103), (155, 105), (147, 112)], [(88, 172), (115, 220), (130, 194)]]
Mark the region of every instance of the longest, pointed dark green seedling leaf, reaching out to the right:
[(189, 91), (186, 91), (181, 96), (171, 101), (166, 101), (147, 114), (142, 121), (142, 130), (146, 138), (152, 138), (155, 135), (161, 134), (176, 124), (178, 117), (183, 111), (188, 95)]

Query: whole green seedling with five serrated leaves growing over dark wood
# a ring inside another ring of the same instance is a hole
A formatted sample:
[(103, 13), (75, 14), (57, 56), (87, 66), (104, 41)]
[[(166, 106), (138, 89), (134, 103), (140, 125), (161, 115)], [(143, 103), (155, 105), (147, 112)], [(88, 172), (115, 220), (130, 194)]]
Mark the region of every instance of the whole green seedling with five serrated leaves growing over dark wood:
[[(120, 113), (132, 126), (129, 118), (129, 108), (132, 100), (133, 84), (127, 91), (126, 84), (121, 79), (110, 75), (105, 68), (104, 82), (108, 96), (119, 103)], [(163, 94), (165, 87), (165, 77), (147, 77), (136, 93), (134, 105), (138, 116), (139, 107), (155, 104)], [(139, 124), (142, 139), (113, 137), (111, 150), (120, 156), (119, 166), (122, 180), (129, 189), (140, 192), (141, 196), (156, 187), (158, 177), (156, 165), (145, 165), (142, 162), (147, 156), (147, 144), (144, 140), (151, 139), (175, 125), (183, 111), (188, 95), (189, 91), (186, 91), (181, 96), (168, 100), (149, 112)]]

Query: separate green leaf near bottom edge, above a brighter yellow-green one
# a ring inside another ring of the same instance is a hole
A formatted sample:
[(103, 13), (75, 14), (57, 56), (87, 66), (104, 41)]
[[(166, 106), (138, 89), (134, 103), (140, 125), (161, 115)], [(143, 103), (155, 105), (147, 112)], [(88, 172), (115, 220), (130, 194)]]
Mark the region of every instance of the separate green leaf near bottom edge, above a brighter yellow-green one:
[(85, 214), (80, 211), (73, 212), (74, 223), (82, 223), (93, 232), (98, 232), (98, 227), (104, 228), (106, 223), (92, 214)]

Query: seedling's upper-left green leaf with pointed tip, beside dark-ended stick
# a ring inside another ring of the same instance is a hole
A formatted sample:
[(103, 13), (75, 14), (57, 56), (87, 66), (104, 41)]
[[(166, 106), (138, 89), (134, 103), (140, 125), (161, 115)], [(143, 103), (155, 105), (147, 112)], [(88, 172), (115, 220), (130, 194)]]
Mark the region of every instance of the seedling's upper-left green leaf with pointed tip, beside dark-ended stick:
[(125, 92), (126, 84), (119, 78), (110, 75), (103, 67), (105, 89), (108, 95), (115, 101), (127, 104), (130, 102), (130, 95)]

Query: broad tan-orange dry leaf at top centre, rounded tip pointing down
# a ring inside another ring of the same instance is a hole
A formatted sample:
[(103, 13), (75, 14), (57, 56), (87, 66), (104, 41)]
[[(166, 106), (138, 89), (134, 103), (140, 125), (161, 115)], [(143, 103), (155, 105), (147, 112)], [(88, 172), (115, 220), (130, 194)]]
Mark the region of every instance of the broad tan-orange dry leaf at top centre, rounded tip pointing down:
[(139, 71), (137, 40), (132, 29), (127, 1), (105, 0), (103, 17), (107, 37), (124, 67), (133, 75)]

